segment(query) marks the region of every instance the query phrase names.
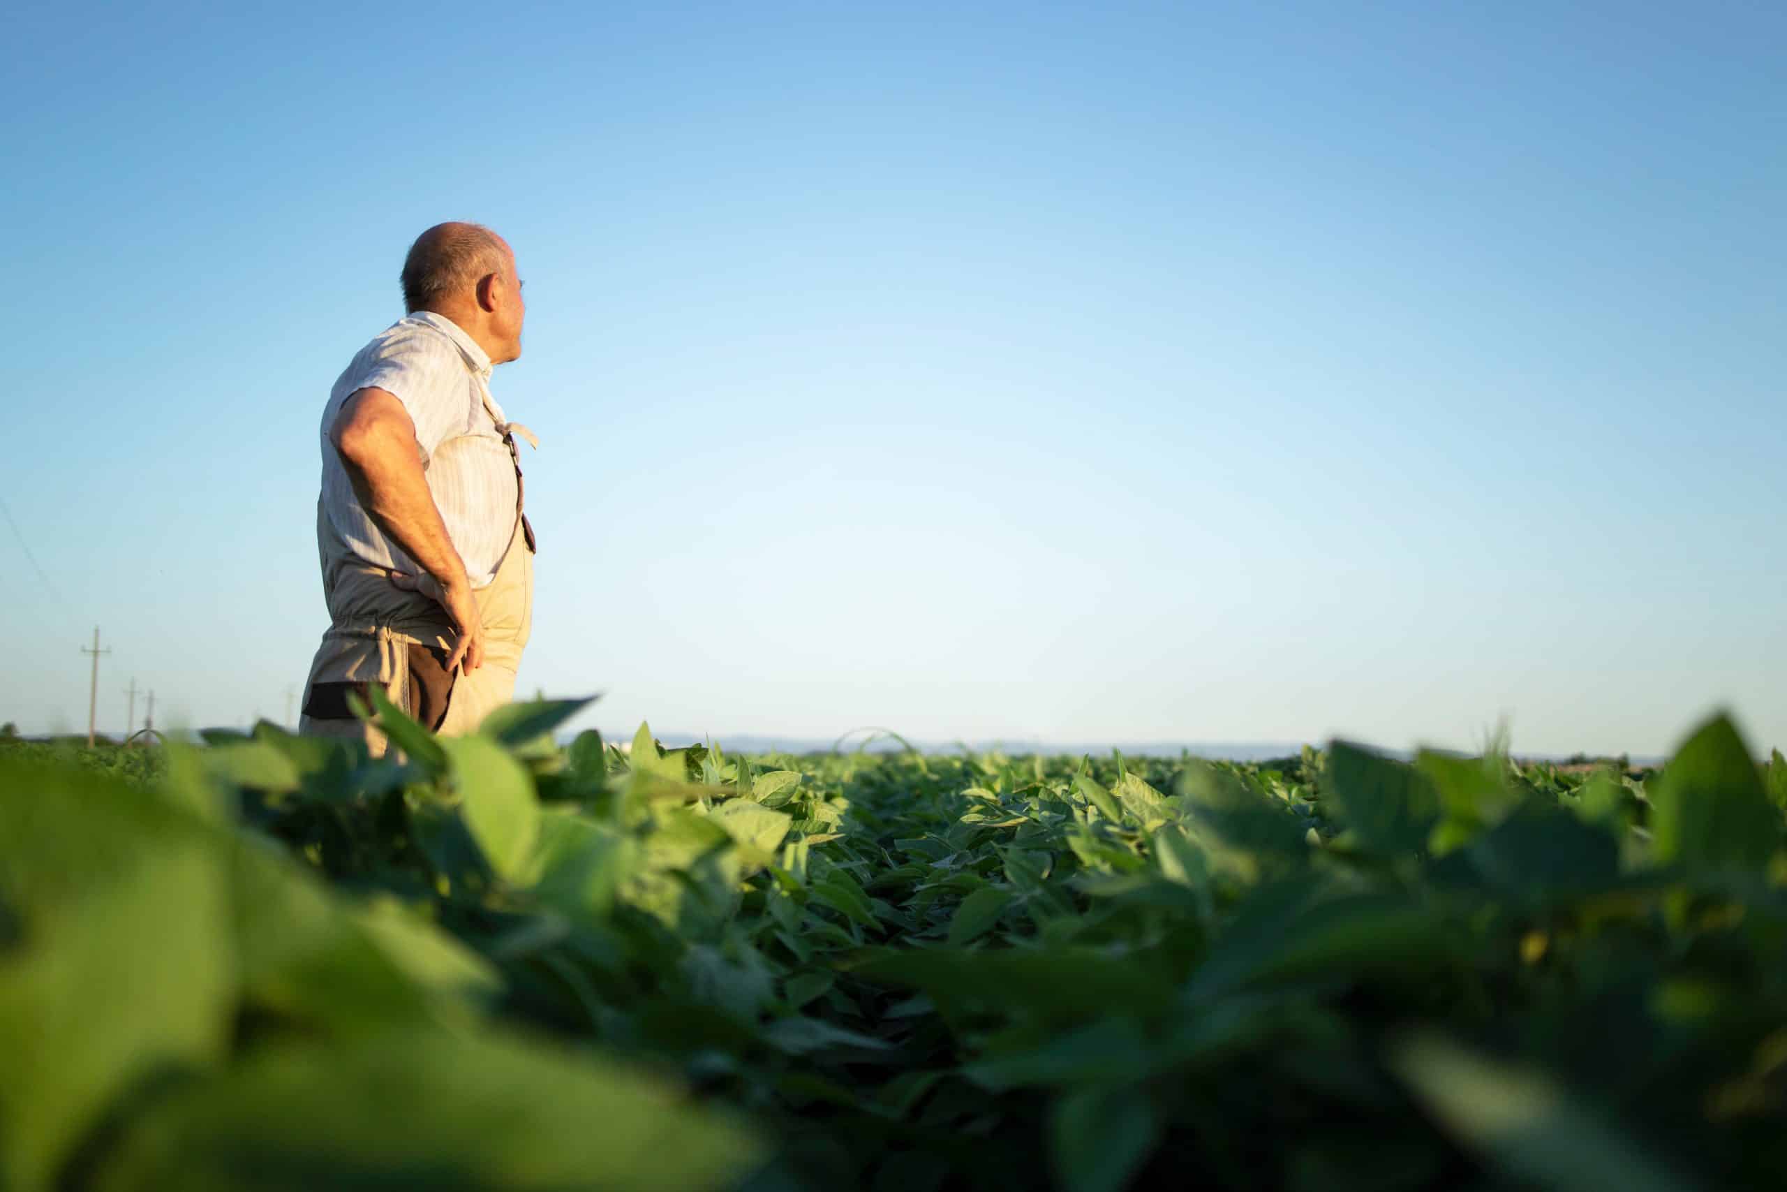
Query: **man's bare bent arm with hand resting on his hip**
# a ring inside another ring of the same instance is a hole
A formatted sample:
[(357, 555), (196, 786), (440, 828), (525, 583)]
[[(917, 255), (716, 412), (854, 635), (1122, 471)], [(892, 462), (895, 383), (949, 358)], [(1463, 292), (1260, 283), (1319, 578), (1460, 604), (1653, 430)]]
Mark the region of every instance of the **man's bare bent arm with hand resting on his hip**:
[(447, 659), (452, 670), (461, 661), (475, 670), (484, 661), (484, 629), (477, 600), (465, 574), (465, 561), (447, 536), (416, 449), (416, 425), (395, 395), (379, 388), (356, 390), (329, 427), (354, 495), (404, 554), (416, 561), (436, 584), (440, 602), (459, 625), (459, 640)]

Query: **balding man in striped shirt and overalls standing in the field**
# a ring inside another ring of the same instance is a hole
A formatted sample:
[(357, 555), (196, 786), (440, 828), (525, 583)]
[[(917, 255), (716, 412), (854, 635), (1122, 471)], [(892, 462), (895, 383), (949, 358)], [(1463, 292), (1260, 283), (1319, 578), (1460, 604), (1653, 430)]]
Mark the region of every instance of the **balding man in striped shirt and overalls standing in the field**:
[(533, 527), (490, 372), (522, 354), (522, 281), (475, 223), (422, 232), (404, 261), (407, 316), (359, 350), (322, 418), (316, 547), (329, 631), (300, 731), (366, 740), (348, 695), (379, 684), (440, 733), (509, 702), (533, 625)]

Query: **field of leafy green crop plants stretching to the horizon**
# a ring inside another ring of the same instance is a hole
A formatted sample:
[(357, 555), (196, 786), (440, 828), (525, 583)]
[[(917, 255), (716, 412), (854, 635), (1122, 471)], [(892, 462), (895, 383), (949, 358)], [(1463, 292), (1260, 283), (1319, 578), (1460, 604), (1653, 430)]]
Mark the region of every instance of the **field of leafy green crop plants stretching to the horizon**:
[(0, 1188), (1762, 1188), (1787, 761), (0, 745)]

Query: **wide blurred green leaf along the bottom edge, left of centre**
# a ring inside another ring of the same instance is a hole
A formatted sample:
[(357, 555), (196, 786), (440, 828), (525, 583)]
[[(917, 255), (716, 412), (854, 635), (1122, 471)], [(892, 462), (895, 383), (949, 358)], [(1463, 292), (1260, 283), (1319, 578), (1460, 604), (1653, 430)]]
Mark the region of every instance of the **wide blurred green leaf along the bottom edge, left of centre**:
[(724, 1188), (767, 1147), (590, 1053), (484, 1031), (266, 1049), (155, 1101), (104, 1169), (150, 1188)]

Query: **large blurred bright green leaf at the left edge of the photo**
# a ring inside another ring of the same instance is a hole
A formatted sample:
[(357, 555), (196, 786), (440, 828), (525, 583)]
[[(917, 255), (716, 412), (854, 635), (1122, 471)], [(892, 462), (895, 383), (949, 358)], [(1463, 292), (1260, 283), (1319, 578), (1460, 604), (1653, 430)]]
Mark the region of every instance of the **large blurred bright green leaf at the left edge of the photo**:
[(0, 758), (0, 1187), (52, 1187), (134, 1085), (223, 1058), (223, 844), (114, 779)]

